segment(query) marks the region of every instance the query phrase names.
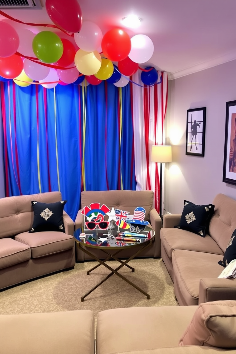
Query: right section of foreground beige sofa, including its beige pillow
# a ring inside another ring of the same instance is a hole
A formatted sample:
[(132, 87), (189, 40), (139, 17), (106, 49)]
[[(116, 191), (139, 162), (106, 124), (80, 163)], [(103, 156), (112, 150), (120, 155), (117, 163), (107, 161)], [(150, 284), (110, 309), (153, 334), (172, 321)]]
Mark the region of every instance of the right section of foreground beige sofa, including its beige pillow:
[(98, 313), (96, 348), (97, 354), (235, 354), (235, 328), (236, 301), (111, 309)]

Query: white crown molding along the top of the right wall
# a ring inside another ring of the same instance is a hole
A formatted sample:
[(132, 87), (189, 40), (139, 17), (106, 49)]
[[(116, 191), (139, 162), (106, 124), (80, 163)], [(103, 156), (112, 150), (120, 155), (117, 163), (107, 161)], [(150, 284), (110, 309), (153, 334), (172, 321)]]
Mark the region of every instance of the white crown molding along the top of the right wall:
[(236, 51), (225, 54), (223, 56), (220, 56), (220, 57), (217, 57), (214, 59), (211, 59), (207, 62), (193, 65), (191, 67), (188, 67), (183, 70), (179, 70), (174, 73), (168, 73), (168, 79), (169, 80), (178, 79), (178, 78), (181, 78), (182, 76), (194, 74), (194, 73), (197, 73), (198, 71), (202, 71), (202, 70), (209, 69), (209, 68), (212, 68), (212, 67), (220, 65), (220, 64), (231, 62), (232, 60), (235, 60), (235, 59), (236, 59)]

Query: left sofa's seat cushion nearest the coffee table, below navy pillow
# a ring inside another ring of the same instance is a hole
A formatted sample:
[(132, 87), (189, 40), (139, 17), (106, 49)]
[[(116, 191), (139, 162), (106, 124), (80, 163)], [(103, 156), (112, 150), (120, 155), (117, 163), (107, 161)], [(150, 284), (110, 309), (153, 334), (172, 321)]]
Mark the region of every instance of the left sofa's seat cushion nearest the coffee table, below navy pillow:
[(32, 258), (63, 252), (73, 248), (75, 244), (73, 236), (60, 231), (42, 231), (37, 232), (37, 235), (23, 232), (16, 235), (15, 240), (30, 246)]

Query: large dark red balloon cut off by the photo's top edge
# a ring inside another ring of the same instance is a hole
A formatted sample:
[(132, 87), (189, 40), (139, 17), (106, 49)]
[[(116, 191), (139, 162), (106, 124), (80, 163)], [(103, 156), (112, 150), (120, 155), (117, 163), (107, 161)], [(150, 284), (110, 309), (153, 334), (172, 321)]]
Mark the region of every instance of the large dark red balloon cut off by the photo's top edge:
[(77, 0), (46, 0), (46, 11), (52, 22), (66, 32), (80, 32), (82, 12)]

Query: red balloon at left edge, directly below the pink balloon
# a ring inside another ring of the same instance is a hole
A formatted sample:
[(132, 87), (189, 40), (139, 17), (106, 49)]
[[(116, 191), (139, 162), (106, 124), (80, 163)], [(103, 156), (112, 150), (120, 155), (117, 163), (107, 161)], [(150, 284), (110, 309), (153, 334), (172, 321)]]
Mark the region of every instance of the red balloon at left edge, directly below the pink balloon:
[(16, 54), (0, 58), (0, 75), (5, 79), (14, 79), (21, 74), (23, 65), (22, 57)]

